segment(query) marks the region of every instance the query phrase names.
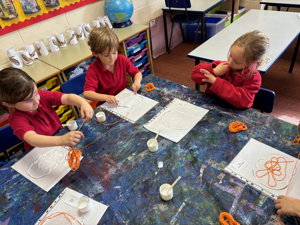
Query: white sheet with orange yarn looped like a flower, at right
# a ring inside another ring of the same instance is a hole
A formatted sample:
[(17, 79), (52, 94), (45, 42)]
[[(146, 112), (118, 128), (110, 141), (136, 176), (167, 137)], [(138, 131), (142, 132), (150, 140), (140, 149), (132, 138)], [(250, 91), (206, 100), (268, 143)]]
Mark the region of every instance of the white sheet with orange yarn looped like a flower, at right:
[(274, 199), (285, 195), (287, 189), (287, 195), (300, 198), (300, 166), (298, 163), (295, 168), (296, 161), (297, 158), (251, 138), (225, 170)]

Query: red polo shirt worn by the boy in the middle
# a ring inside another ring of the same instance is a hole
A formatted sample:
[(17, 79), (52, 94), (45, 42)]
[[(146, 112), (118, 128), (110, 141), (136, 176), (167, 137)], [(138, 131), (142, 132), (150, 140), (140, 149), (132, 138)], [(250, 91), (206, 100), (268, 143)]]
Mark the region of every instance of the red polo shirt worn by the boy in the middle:
[[(99, 94), (117, 95), (127, 88), (126, 73), (132, 78), (140, 72), (139, 69), (124, 55), (118, 55), (115, 61), (115, 74), (104, 68), (99, 57), (89, 67), (85, 75), (83, 91), (95, 91)], [(99, 101), (97, 106), (105, 101)]]

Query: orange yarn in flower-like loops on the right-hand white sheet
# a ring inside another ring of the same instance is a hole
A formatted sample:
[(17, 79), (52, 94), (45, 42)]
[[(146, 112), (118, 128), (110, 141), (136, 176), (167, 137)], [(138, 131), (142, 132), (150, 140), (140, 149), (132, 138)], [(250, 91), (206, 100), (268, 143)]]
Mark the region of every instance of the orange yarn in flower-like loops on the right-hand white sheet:
[[(283, 161), (279, 161), (279, 159), (282, 159)], [(291, 163), (291, 162), (293, 162), (293, 161), (286, 161), (286, 159), (283, 158), (283, 157), (278, 157), (278, 158), (272, 157), (271, 160), (265, 162), (264, 167), (266, 169), (264, 169), (264, 170), (257, 170), (256, 173), (255, 173), (255, 175), (257, 177), (259, 177), (259, 178), (268, 175), (268, 185), (270, 187), (275, 187), (277, 185), (276, 181), (282, 181), (283, 179), (285, 179), (285, 177), (286, 177), (286, 166), (287, 166), (287, 163)], [(276, 176), (281, 176), (281, 174), (282, 174), (280, 172), (280, 170), (281, 170), (280, 163), (285, 163), (285, 165), (284, 165), (284, 177), (281, 180), (277, 180)], [(266, 173), (263, 174), (262, 176), (258, 176), (257, 173), (260, 172), (260, 171), (265, 171)], [(273, 180), (275, 182), (274, 185), (270, 184), (270, 176), (273, 178)]]

